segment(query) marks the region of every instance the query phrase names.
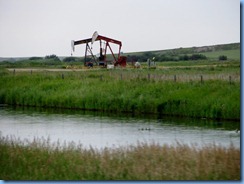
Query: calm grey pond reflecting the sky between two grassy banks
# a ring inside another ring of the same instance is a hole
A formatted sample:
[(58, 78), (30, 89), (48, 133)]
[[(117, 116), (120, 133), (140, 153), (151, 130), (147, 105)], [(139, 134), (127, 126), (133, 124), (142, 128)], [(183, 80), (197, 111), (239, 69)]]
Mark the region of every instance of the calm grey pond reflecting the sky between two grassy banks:
[(116, 148), (140, 143), (215, 143), (240, 147), (240, 122), (105, 114), (100, 112), (0, 108), (1, 136), (21, 140), (82, 144), (84, 148)]

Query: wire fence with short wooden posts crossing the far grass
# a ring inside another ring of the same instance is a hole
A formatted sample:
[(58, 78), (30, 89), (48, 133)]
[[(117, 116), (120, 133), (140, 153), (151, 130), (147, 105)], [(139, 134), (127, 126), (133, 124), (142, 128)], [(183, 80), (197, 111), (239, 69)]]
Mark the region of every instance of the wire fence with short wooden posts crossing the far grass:
[[(88, 73), (84, 71), (67, 71), (67, 70), (57, 70), (57, 71), (48, 71), (48, 70), (18, 70), (12, 69), (11, 70), (13, 75), (16, 73), (29, 73), (32, 75), (33, 73), (42, 73), (43, 75), (59, 75), (60, 78), (70, 78), (70, 77), (81, 77), (82, 79), (86, 78), (99, 78), (102, 80), (145, 80), (145, 81), (173, 81), (173, 82), (193, 82), (199, 81), (204, 83), (204, 81), (209, 80), (221, 80), (227, 81), (230, 84), (234, 82), (240, 82), (240, 73), (238, 72), (229, 72), (229, 73), (212, 73), (212, 74), (195, 74), (195, 73), (188, 73), (188, 74), (159, 74), (159, 73), (150, 73), (150, 72), (133, 72), (133, 71), (101, 71), (96, 73)], [(94, 72), (94, 71), (93, 71)], [(55, 74), (54, 74), (55, 73)]]

